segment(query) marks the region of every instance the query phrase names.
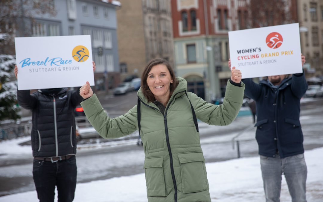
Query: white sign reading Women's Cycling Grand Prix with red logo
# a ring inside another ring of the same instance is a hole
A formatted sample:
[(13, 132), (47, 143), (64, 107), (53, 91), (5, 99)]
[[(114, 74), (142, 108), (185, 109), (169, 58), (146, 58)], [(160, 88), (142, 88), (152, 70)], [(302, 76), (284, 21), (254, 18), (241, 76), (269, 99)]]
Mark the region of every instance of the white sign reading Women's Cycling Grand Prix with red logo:
[(303, 71), (298, 23), (230, 31), (229, 47), (243, 79)]

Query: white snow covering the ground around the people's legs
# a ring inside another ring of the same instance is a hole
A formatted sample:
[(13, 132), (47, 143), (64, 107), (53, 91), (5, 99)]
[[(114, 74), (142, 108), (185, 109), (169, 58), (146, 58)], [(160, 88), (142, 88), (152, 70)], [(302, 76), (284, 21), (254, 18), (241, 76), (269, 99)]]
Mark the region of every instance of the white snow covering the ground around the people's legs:
[[(22, 138), (23, 139), (23, 138)], [(22, 140), (21, 139), (21, 140)], [(20, 141), (21, 141), (20, 140)], [(17, 140), (10, 142), (14, 147)], [(0, 153), (3, 144), (0, 143)], [(16, 146), (17, 147), (17, 146)], [(28, 146), (30, 149), (30, 146)], [(28, 150), (29, 150), (28, 149)], [(19, 149), (25, 150), (25, 147)], [(19, 152), (18, 149), (16, 150)], [(30, 151), (28, 151), (30, 152)], [(323, 199), (323, 147), (305, 152), (307, 163), (307, 201)], [(126, 160), (126, 159), (125, 159)], [(265, 201), (260, 172), (259, 157), (240, 158), (206, 164), (210, 194), (213, 202), (259, 202)], [(36, 191), (0, 197), (0, 202), (37, 201)], [(57, 196), (55, 201), (57, 201)], [(78, 183), (76, 202), (143, 202), (147, 201), (145, 175), (114, 177), (107, 180)], [(281, 201), (291, 201), (283, 178)]]

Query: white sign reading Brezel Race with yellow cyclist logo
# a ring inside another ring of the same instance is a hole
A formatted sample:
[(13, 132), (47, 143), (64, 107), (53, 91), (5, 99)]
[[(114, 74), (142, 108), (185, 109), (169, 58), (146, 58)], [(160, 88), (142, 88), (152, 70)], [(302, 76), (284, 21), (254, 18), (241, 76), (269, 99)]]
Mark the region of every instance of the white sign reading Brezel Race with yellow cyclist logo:
[(18, 90), (94, 85), (90, 35), (16, 37)]

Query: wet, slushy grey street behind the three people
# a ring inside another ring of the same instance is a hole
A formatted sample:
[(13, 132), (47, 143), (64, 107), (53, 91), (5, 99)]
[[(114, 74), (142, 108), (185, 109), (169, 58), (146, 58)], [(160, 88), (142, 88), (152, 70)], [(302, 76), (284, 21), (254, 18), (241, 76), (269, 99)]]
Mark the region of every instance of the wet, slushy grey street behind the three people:
[[(136, 104), (136, 93), (112, 97), (99, 97), (103, 107), (116, 117)], [(304, 147), (312, 149), (323, 146), (323, 99), (304, 102), (301, 105), (301, 124), (304, 132)], [(209, 126), (199, 122), (201, 145), (206, 162), (216, 162), (237, 157), (236, 142), (232, 138), (252, 124), (251, 116), (237, 117), (228, 126)], [(100, 138), (101, 139), (101, 138)], [(239, 137), (241, 157), (257, 155), (255, 128)], [(96, 141), (96, 140), (95, 140)], [(116, 176), (143, 173), (144, 153), (137, 140), (106, 144), (98, 141), (91, 147), (79, 145), (77, 152), (78, 183), (108, 179)], [(234, 145), (234, 149), (233, 149)], [(127, 161), (120, 161), (127, 156)], [(1, 156), (0, 156), (1, 157)], [(0, 158), (0, 196), (34, 190), (32, 179), (32, 156), (22, 154)], [(1, 199), (1, 198), (0, 198)]]

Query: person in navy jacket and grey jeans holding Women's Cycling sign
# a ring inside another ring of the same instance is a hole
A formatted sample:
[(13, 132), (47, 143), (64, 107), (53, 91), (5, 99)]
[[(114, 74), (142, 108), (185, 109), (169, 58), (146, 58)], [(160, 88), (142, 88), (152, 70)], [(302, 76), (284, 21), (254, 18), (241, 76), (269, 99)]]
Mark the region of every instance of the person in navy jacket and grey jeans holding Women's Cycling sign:
[[(305, 56), (301, 55), (302, 65)], [(228, 62), (231, 69), (231, 61)], [(307, 167), (299, 122), (300, 99), (307, 90), (303, 73), (268, 76), (256, 84), (243, 79), (245, 95), (256, 102), (256, 140), (266, 202), (279, 202), (282, 174), (293, 202), (306, 202)]]

